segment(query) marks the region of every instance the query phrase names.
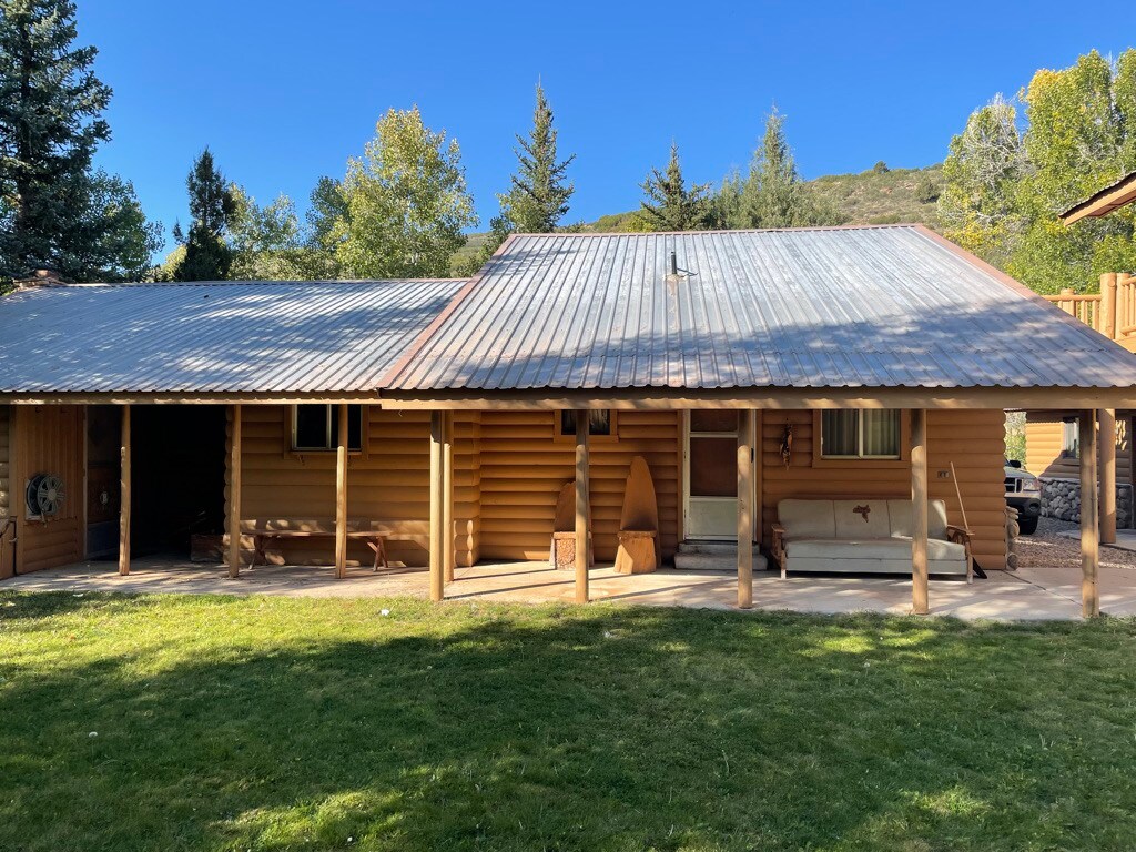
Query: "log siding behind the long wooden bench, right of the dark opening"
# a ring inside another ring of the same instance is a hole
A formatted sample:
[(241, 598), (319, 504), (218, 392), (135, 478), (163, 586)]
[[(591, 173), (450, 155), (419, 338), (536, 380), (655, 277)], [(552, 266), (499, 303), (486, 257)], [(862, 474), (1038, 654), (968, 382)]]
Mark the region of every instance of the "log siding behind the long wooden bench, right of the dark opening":
[[(429, 412), (368, 408), (367, 452), (348, 459), (348, 517), (352, 520), (406, 521), (410, 540), (392, 540), (392, 560), (424, 566), (429, 534)], [(291, 452), (290, 412), (282, 406), (244, 406), (241, 442), (242, 528), (282, 529), (315, 526), (334, 529), (335, 453)], [(469, 566), (478, 554), (478, 475), (476, 412), (460, 412), (454, 424), (454, 527), (457, 565)], [(231, 483), (226, 454), (225, 500)], [(252, 542), (245, 537), (244, 559)], [(278, 556), (283, 553), (283, 557)], [(274, 542), (273, 561), (331, 565), (331, 540)], [(373, 552), (349, 542), (349, 565), (369, 566)]]

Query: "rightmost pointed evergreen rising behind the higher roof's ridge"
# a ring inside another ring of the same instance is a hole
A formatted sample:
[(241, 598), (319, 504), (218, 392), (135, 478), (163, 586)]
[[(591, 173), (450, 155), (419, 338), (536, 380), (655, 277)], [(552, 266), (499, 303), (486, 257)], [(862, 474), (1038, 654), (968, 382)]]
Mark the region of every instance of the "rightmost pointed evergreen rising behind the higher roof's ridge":
[(842, 220), (834, 209), (809, 194), (785, 137), (785, 117), (776, 109), (766, 120), (761, 147), (753, 154), (736, 207), (730, 227), (784, 228)]

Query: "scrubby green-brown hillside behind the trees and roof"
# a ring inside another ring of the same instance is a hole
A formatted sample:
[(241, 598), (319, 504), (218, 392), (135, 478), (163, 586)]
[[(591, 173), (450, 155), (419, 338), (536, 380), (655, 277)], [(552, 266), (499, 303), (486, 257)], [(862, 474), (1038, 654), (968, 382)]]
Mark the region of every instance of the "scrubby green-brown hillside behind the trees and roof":
[[(847, 175), (825, 175), (805, 185), (818, 198), (835, 207), (851, 225), (886, 225), (897, 222), (918, 222), (937, 227), (935, 212), (937, 187), (942, 183), (943, 167), (938, 164), (926, 168), (872, 168)], [(929, 190), (934, 189), (934, 192)], [(609, 233), (624, 229), (624, 222), (632, 212), (601, 216), (586, 223), (583, 229)], [(467, 243), (453, 256), (452, 267), (471, 257), (485, 242), (485, 234), (470, 234)]]

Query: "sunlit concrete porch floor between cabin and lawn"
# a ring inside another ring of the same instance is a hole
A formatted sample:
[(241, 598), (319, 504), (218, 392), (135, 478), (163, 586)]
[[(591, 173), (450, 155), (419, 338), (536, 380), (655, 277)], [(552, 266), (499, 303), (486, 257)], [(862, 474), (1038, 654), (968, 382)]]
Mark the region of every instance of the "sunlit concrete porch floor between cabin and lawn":
[[(571, 571), (550, 569), (546, 562), (483, 563), (459, 569), (446, 587), (451, 601), (570, 603)], [(1136, 615), (1136, 570), (1101, 567), (1101, 609), (1112, 616)], [(734, 609), (736, 578), (729, 573), (678, 571), (626, 576), (610, 566), (592, 571), (594, 601), (657, 607)], [(128, 577), (112, 562), (82, 562), (0, 583), (0, 591), (67, 591), (272, 594), (314, 598), (428, 596), (425, 570), (373, 574), (354, 568), (336, 580), (329, 568), (258, 566), (229, 579), (223, 567), (168, 559), (139, 559)], [(1016, 573), (992, 571), (972, 585), (961, 579), (932, 579), (933, 615), (964, 619), (1033, 620), (1080, 617), (1080, 573), (1069, 566), (1039, 566)], [(911, 607), (911, 580), (901, 577), (791, 576), (758, 573), (753, 583), (755, 610), (795, 612), (882, 612), (903, 615)]]

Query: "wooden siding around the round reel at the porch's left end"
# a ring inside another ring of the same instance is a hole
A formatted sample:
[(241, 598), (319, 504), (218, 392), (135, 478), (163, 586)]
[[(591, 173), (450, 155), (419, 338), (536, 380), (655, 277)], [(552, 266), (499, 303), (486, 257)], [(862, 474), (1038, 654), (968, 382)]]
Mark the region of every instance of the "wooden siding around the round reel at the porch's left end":
[(83, 556), (83, 411), (78, 406), (16, 406), (10, 506), (22, 508), (23, 483), (35, 474), (64, 481), (62, 509), (48, 521), (25, 520), (19, 535), (20, 574), (67, 565)]

